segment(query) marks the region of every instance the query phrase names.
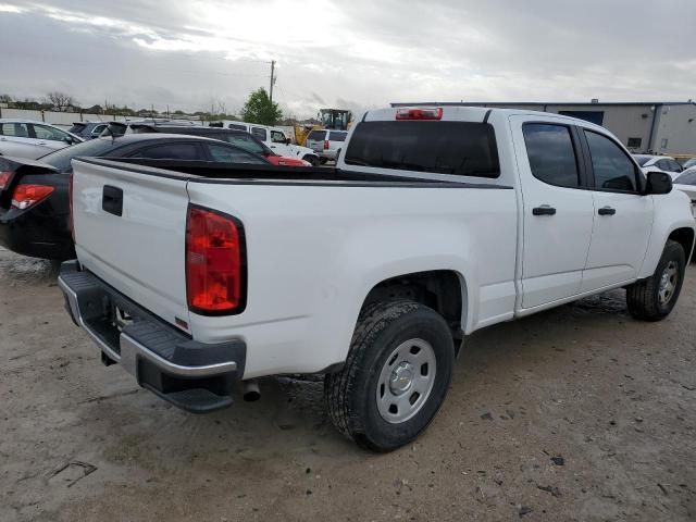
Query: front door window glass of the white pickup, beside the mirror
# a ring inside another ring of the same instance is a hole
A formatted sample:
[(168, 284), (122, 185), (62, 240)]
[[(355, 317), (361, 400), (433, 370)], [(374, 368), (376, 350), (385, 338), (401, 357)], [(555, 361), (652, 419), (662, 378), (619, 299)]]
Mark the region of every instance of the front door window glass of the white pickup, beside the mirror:
[(611, 139), (592, 130), (585, 130), (595, 188), (600, 190), (638, 190), (637, 167), (629, 156)]

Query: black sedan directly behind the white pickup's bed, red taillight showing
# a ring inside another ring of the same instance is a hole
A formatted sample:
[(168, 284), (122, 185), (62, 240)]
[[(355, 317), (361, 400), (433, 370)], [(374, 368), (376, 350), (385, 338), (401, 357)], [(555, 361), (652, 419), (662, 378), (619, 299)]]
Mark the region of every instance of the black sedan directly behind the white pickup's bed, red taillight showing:
[(35, 161), (0, 157), (0, 245), (34, 258), (75, 257), (69, 185), (71, 161), (77, 157), (271, 165), (265, 158), (229, 144), (171, 134), (101, 137)]

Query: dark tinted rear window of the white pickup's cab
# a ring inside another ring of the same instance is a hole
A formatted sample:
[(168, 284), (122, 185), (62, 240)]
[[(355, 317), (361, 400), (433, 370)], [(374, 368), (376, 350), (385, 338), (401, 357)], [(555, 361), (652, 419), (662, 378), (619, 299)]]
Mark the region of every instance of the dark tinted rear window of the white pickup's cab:
[(478, 122), (359, 123), (346, 164), (495, 178), (500, 175), (493, 126)]

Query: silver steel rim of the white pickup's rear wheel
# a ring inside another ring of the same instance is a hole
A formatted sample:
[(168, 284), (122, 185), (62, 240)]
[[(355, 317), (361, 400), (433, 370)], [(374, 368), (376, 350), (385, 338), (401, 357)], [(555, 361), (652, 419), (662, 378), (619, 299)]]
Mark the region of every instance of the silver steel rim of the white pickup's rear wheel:
[(421, 411), (433, 391), (436, 370), (435, 350), (426, 340), (409, 339), (397, 346), (377, 380), (375, 399), (382, 419), (400, 424)]

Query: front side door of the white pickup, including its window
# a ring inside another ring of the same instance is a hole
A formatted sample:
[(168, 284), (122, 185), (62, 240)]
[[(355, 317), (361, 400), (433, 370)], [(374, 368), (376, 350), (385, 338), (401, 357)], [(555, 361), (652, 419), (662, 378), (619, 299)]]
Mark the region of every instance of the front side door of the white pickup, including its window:
[(641, 169), (613, 138), (581, 129), (592, 167), (594, 228), (581, 291), (634, 279), (652, 229), (652, 198), (642, 196)]

